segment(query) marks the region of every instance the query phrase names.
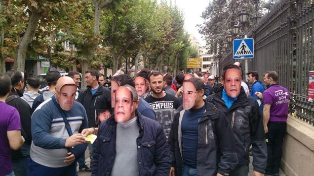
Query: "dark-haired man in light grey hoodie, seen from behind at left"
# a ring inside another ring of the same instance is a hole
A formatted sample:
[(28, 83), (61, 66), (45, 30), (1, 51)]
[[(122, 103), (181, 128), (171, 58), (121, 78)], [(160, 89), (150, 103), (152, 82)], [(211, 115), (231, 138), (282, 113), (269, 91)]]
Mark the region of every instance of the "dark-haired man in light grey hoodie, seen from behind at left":
[(31, 107), (33, 105), (33, 101), (35, 98), (40, 95), (38, 93), (38, 89), (41, 87), (41, 81), (38, 77), (31, 76), (27, 78), (26, 81), (26, 88), (27, 91), (23, 93), (23, 96), (21, 97), (23, 100), (25, 100), (29, 106)]

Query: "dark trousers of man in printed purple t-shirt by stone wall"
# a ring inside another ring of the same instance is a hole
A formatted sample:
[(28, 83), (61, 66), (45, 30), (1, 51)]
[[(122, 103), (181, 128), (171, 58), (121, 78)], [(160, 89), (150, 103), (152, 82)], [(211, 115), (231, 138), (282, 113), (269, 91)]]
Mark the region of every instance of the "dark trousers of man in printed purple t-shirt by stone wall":
[(265, 174), (278, 174), (282, 157), (283, 140), (286, 133), (286, 122), (268, 122), (267, 167)]

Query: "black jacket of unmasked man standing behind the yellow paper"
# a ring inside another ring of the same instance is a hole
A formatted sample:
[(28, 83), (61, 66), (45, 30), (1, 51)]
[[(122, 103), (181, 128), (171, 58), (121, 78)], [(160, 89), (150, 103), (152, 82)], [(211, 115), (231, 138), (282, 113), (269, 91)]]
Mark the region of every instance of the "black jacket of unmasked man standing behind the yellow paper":
[(92, 95), (91, 87), (82, 90), (76, 101), (83, 104), (88, 123), (90, 127), (98, 127), (98, 113), (104, 110), (111, 111), (111, 93), (110, 90), (101, 86), (100, 83), (97, 92)]

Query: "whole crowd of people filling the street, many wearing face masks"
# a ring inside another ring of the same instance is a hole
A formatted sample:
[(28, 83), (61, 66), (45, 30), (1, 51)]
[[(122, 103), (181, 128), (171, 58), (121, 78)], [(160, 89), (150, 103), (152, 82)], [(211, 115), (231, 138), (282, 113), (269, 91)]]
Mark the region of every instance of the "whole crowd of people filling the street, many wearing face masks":
[[(0, 74), (0, 176), (279, 175), (290, 92), (275, 71), (227, 65), (208, 73), (142, 69), (67, 76), (52, 68), (48, 88), (24, 73)], [(25, 85), (24, 85), (25, 81)], [(87, 136), (97, 135), (94, 143)], [(90, 165), (85, 162), (89, 149)]]

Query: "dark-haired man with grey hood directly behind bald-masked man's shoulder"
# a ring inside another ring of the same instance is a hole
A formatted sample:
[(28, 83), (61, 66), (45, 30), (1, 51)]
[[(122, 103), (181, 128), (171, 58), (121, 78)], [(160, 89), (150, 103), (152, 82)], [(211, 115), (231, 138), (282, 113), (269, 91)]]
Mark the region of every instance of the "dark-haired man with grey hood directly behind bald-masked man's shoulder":
[(49, 71), (47, 73), (46, 81), (48, 83), (49, 89), (46, 90), (43, 94), (35, 98), (31, 106), (32, 111), (35, 111), (38, 105), (40, 105), (42, 102), (46, 101), (47, 99), (51, 98), (55, 94), (56, 84), (60, 77), (61, 75), (58, 71)]

